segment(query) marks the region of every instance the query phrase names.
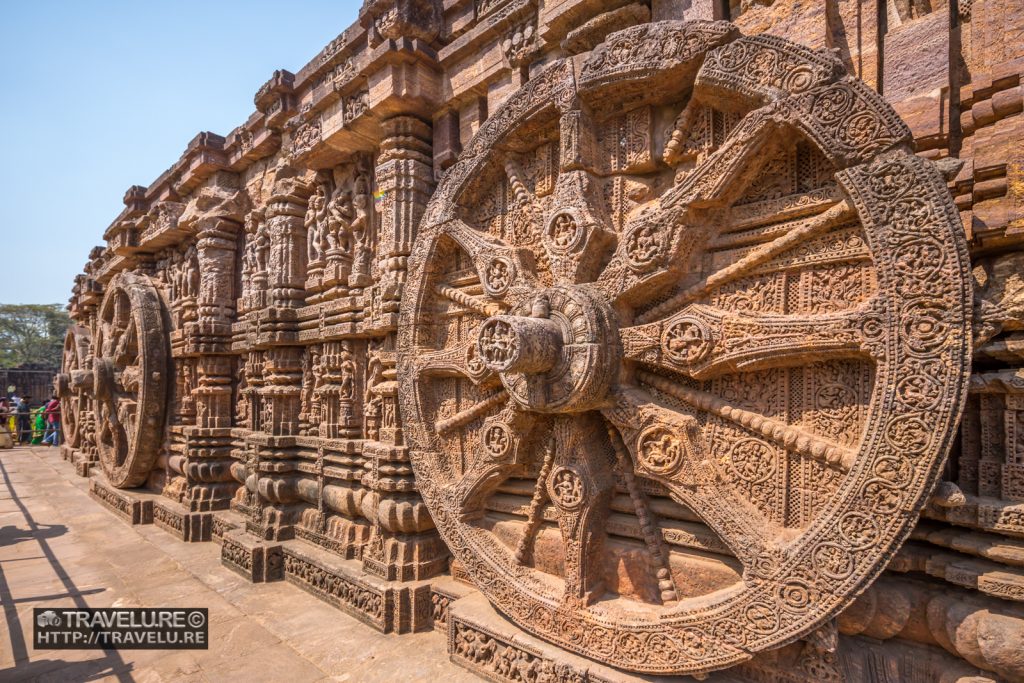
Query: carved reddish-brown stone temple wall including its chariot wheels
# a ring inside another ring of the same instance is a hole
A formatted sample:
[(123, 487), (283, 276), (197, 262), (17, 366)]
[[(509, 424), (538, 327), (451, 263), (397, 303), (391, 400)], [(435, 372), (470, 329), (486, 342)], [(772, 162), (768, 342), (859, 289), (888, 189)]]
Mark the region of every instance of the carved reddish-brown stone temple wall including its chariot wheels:
[(368, 1), (125, 194), (63, 454), (490, 680), (1024, 680), (1022, 73), (998, 0)]

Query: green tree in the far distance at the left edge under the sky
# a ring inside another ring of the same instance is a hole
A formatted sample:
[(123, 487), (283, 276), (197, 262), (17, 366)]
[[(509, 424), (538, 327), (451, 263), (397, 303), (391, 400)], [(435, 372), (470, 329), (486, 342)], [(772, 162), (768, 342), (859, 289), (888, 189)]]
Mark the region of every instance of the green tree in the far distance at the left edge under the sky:
[(60, 368), (71, 317), (61, 304), (0, 304), (0, 368)]

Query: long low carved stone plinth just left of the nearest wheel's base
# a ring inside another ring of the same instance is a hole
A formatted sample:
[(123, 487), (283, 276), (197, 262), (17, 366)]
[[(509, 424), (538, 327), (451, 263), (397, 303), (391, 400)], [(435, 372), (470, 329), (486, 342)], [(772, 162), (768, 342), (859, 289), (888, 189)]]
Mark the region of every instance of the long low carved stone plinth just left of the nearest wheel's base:
[(285, 579), (382, 633), (430, 629), (431, 587), (367, 573), (360, 562), (342, 560), (301, 541), (284, 544)]

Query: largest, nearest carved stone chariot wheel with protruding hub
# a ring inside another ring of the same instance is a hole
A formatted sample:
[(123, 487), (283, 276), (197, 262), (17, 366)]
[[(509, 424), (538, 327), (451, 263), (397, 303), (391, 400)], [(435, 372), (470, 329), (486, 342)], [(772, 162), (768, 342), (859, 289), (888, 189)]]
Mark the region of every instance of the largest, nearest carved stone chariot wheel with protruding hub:
[(539, 74), (410, 258), (418, 484), (516, 624), (698, 673), (809, 634), (933, 489), (970, 362), (941, 174), (831, 53), (726, 23)]

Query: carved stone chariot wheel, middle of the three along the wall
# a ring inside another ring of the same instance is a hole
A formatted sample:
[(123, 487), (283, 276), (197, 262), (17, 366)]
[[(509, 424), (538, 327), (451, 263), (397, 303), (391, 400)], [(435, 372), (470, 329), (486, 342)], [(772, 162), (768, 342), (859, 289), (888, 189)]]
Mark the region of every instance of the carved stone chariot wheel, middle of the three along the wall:
[(96, 323), (96, 449), (112, 485), (141, 485), (163, 438), (170, 357), (163, 304), (144, 275), (108, 286)]

